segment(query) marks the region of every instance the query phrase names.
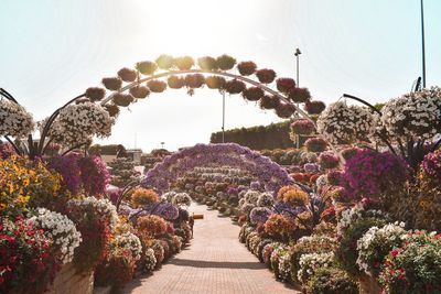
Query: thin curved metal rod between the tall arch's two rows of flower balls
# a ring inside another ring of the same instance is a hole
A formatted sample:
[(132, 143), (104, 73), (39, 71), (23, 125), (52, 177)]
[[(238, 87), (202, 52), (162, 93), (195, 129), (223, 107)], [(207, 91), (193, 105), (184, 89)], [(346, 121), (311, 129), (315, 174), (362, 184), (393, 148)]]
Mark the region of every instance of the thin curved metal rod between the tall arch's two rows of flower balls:
[[(138, 86), (138, 85), (141, 84), (141, 83), (144, 83), (144, 81), (148, 81), (148, 80), (151, 80), (151, 79), (162, 78), (162, 77), (172, 76), (172, 75), (184, 75), (184, 74), (212, 74), (212, 75), (218, 75), (218, 76), (230, 77), (230, 78), (234, 78), (234, 79), (239, 79), (239, 80), (241, 80), (241, 81), (251, 84), (251, 85), (254, 85), (254, 86), (256, 86), (256, 87), (258, 87), (258, 88), (260, 88), (260, 89), (262, 89), (262, 90), (265, 90), (265, 91), (268, 91), (268, 92), (270, 92), (271, 95), (278, 97), (278, 98), (279, 98), (280, 100), (282, 100), (284, 104), (293, 106), (293, 107), (295, 108), (295, 110), (297, 110), (300, 115), (302, 115), (302, 117), (304, 117), (305, 119), (310, 120), (312, 123), (314, 123), (314, 126), (316, 126), (316, 124), (315, 124), (315, 121), (312, 120), (312, 119), (310, 118), (310, 116), (309, 116), (305, 111), (303, 111), (302, 109), (300, 109), (300, 108), (299, 108), (298, 106), (295, 106), (294, 104), (290, 102), (290, 101), (287, 99), (287, 97), (280, 95), (280, 92), (278, 92), (278, 91), (276, 91), (276, 90), (273, 90), (273, 89), (271, 89), (271, 88), (269, 88), (269, 87), (262, 85), (261, 83), (258, 83), (258, 81), (256, 81), (256, 80), (252, 80), (252, 79), (250, 79), (250, 78), (243, 77), (243, 76), (239, 76), (239, 75), (234, 75), (234, 74), (226, 73), (226, 72), (203, 70), (203, 69), (169, 70), (169, 72), (163, 72), (163, 73), (160, 73), (160, 74), (157, 74), (157, 75), (152, 75), (152, 76), (149, 76), (149, 77), (141, 78), (141, 79), (139, 79), (139, 80), (137, 80), (137, 81), (132, 81), (132, 83), (130, 83), (129, 85), (126, 85), (125, 87), (122, 87), (121, 89), (119, 89), (119, 90), (116, 91), (116, 92), (126, 91), (126, 90), (128, 90), (128, 89), (130, 89), (130, 88), (133, 88), (133, 87)], [(111, 94), (111, 95), (109, 95), (107, 98), (105, 98), (105, 99), (101, 101), (101, 105), (104, 106), (104, 105), (106, 105), (107, 102), (109, 102), (109, 101), (111, 100), (111, 98), (114, 97), (114, 95), (115, 95), (115, 92)]]

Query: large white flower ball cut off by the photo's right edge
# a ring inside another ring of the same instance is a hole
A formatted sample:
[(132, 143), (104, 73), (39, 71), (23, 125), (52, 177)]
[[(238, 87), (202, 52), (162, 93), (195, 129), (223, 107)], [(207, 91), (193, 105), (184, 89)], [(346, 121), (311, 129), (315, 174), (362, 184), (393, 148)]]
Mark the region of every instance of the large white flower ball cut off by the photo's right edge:
[(396, 138), (432, 139), (441, 132), (441, 88), (433, 87), (391, 99), (381, 122)]

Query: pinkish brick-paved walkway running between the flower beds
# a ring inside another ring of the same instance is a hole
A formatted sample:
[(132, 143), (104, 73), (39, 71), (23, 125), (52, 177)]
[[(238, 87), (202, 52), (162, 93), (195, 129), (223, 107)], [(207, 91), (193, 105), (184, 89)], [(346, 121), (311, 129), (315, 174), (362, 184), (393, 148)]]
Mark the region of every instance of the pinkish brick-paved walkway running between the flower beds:
[(239, 227), (216, 210), (195, 205), (190, 208), (204, 214), (195, 220), (192, 244), (172, 258), (152, 276), (135, 280), (122, 293), (133, 294), (236, 294), (300, 293), (275, 280), (272, 273), (237, 236)]

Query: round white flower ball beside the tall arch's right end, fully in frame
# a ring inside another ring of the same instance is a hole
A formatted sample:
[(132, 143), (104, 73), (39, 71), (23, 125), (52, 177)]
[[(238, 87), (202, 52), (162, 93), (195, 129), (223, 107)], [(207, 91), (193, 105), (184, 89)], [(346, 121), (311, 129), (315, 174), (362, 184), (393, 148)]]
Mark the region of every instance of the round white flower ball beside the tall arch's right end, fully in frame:
[(343, 101), (330, 105), (319, 117), (318, 132), (334, 144), (367, 140), (375, 131), (374, 117), (365, 107)]

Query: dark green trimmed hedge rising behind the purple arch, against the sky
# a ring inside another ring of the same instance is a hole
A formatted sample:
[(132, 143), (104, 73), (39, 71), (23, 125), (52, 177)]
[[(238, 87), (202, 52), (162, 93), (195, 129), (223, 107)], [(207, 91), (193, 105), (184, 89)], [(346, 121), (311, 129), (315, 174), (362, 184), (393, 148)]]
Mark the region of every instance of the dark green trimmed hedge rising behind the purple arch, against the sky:
[[(269, 126), (238, 128), (225, 131), (225, 142), (237, 143), (252, 150), (288, 149), (294, 146), (289, 138), (290, 121)], [(222, 132), (212, 133), (211, 143), (222, 143)]]

